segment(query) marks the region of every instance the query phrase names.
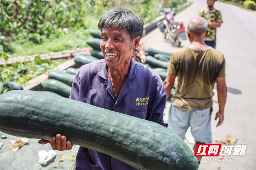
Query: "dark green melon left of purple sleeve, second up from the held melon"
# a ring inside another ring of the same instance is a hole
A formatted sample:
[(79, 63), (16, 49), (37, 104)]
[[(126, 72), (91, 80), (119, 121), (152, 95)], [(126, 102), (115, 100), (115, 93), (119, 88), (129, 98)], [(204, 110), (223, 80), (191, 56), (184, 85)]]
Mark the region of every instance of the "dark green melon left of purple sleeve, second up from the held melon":
[(59, 80), (69, 86), (72, 86), (73, 80), (75, 78), (75, 75), (64, 73), (60, 70), (50, 70), (48, 73), (50, 79)]

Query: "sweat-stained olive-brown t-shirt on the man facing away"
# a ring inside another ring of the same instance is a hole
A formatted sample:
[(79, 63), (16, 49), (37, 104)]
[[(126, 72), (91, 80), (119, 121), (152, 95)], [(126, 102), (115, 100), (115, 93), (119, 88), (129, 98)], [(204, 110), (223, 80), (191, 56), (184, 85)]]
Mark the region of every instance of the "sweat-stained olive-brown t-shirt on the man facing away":
[(212, 47), (197, 51), (186, 46), (175, 51), (167, 70), (178, 77), (172, 104), (186, 111), (211, 107), (216, 78), (226, 76), (224, 55)]

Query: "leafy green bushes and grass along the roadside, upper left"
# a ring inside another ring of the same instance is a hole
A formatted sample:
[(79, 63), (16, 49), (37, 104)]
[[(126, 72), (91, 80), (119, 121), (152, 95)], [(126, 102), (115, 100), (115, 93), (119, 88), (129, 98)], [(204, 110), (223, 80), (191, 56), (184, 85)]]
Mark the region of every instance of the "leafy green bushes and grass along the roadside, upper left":
[[(97, 29), (108, 10), (128, 8), (149, 23), (159, 16), (158, 4), (158, 0), (0, 0), (0, 57), (87, 47), (88, 30)], [(180, 0), (166, 0), (163, 7), (182, 8), (179, 4)]]

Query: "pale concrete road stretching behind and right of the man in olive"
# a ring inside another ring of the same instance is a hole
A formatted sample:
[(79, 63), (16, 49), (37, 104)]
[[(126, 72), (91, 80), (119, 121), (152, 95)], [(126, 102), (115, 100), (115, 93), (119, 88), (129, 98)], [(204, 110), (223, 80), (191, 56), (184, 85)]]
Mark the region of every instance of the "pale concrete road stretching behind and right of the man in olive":
[[(186, 25), (204, 6), (206, 0), (194, 0), (194, 4), (177, 14), (175, 20), (186, 20)], [(228, 96), (224, 123), (216, 128), (217, 122), (212, 119), (213, 140), (225, 139), (230, 134), (238, 138), (237, 145), (247, 145), (247, 148), (244, 156), (225, 156), (233, 157), (232, 161), (202, 163), (200, 169), (217, 170), (219, 167), (222, 170), (255, 170), (256, 12), (218, 1), (215, 7), (222, 11), (224, 21), (217, 29), (216, 49), (226, 59)], [(163, 51), (178, 49), (163, 39), (158, 29), (142, 38), (142, 42), (148, 47)], [(189, 44), (187, 40), (181, 46)], [(213, 98), (218, 99), (216, 90)], [(217, 111), (218, 103), (214, 103), (214, 115)]]

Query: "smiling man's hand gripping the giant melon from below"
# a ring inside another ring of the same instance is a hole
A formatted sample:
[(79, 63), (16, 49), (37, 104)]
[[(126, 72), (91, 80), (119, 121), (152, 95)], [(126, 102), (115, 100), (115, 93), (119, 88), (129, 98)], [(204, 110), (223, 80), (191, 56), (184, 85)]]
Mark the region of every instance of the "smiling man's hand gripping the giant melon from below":
[(45, 145), (45, 144), (50, 144), (52, 146), (53, 150), (58, 150), (58, 151), (66, 151), (66, 150), (71, 150), (73, 147), (73, 144), (65, 136), (61, 136), (61, 134), (57, 134), (56, 137), (53, 136), (51, 140), (39, 140), (39, 144)]

